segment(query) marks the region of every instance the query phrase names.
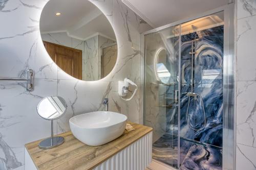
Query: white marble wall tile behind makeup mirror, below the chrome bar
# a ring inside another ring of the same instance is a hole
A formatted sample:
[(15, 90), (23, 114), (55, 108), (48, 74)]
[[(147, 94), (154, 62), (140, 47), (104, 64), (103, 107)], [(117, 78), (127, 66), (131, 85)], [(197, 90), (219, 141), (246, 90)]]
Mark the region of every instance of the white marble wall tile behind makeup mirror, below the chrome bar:
[(0, 167), (13, 169), (24, 165), (25, 143), (50, 136), (50, 122), (37, 114), (36, 106), (45, 96), (56, 95), (57, 81), (35, 80), (32, 92), (25, 83), (0, 84)]

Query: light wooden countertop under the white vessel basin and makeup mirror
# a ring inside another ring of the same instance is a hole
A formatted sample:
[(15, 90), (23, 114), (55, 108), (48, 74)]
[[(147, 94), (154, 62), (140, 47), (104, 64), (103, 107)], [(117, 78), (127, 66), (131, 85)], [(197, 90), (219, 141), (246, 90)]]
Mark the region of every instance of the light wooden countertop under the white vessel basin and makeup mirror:
[(65, 142), (56, 148), (39, 149), (38, 144), (41, 140), (28, 143), (25, 147), (39, 170), (93, 169), (152, 131), (152, 128), (143, 125), (130, 124), (135, 130), (125, 130), (119, 138), (98, 147), (80, 142), (71, 131), (58, 135), (64, 137)]

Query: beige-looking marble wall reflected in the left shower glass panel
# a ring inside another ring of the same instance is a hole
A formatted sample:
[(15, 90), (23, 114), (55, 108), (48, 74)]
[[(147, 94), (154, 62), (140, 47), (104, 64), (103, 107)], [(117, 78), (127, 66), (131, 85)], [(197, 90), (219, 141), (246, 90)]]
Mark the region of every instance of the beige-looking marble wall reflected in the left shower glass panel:
[(165, 48), (160, 34), (145, 36), (145, 125), (153, 128), (153, 143), (166, 132), (166, 86), (156, 77), (156, 58), (159, 49)]

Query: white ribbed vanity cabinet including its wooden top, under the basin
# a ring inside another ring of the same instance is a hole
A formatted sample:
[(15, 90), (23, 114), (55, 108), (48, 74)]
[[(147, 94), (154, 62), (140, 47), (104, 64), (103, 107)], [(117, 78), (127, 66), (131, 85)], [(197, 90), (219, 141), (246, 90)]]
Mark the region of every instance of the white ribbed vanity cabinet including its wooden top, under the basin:
[(26, 170), (144, 170), (152, 161), (152, 128), (131, 123), (135, 130), (98, 147), (77, 140), (71, 132), (58, 136), (65, 142), (50, 150), (41, 150), (41, 140), (26, 144)]

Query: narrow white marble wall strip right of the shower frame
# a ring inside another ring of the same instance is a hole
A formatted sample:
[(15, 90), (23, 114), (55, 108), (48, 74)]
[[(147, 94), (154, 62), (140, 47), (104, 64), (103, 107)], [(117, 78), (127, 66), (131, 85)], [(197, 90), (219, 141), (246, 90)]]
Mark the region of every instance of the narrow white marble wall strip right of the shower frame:
[(256, 1), (237, 0), (237, 170), (256, 169)]

